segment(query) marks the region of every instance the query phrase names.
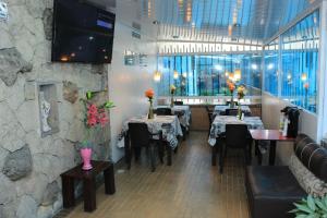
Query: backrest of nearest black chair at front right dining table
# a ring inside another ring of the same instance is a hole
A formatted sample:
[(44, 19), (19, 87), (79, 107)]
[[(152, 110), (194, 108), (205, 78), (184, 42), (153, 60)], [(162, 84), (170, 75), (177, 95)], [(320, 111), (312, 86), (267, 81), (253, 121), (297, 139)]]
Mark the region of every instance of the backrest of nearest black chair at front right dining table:
[(234, 148), (243, 148), (247, 145), (250, 133), (245, 124), (226, 125), (226, 145)]

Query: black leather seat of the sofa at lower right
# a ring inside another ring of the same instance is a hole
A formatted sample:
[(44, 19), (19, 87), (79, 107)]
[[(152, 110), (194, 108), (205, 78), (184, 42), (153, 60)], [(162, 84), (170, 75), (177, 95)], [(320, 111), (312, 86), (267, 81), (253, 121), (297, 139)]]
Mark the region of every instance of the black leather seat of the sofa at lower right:
[(293, 203), (306, 196), (288, 167), (247, 167), (246, 192), (253, 218), (291, 217)]

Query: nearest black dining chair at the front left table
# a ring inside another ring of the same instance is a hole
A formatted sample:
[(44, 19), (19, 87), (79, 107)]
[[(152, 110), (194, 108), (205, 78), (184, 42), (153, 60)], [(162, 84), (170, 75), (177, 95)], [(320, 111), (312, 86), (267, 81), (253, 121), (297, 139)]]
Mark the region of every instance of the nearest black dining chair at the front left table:
[[(156, 136), (156, 137), (155, 137)], [(141, 156), (142, 147), (145, 147), (147, 150), (147, 156), (150, 160), (152, 171), (156, 170), (156, 153), (155, 149), (159, 150), (160, 161), (164, 162), (164, 155), (160, 153), (162, 134), (161, 132), (157, 134), (152, 134), (146, 123), (129, 123), (129, 148), (125, 149), (125, 156), (128, 157), (128, 169), (131, 169), (131, 161), (133, 153), (135, 155), (135, 160), (137, 160)]]

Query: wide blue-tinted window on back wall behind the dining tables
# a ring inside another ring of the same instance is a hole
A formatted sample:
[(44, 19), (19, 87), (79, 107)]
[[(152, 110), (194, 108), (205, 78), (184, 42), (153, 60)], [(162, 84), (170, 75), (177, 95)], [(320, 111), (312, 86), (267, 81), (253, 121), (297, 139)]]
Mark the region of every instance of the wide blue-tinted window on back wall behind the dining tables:
[(160, 96), (169, 96), (170, 84), (178, 87), (178, 96), (229, 95), (227, 74), (235, 70), (241, 70), (240, 84), (247, 86), (247, 95), (261, 95), (262, 55), (172, 56), (158, 62)]

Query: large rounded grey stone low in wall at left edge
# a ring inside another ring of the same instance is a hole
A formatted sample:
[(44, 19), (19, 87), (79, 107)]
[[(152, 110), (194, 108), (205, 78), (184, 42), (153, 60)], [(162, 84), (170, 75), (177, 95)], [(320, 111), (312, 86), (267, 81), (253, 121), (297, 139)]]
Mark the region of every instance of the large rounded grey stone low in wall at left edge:
[(12, 181), (26, 177), (31, 171), (32, 156), (28, 145), (7, 156), (2, 172)]

